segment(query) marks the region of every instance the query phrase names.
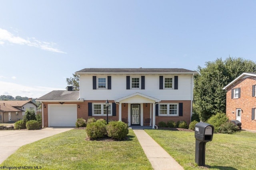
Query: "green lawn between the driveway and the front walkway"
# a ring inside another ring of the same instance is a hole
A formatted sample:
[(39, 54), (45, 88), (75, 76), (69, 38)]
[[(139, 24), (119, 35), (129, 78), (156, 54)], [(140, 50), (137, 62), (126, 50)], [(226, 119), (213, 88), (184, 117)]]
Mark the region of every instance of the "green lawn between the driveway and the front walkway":
[(84, 129), (36, 141), (18, 149), (1, 166), (41, 166), (43, 170), (151, 170), (134, 132), (126, 141), (86, 141)]

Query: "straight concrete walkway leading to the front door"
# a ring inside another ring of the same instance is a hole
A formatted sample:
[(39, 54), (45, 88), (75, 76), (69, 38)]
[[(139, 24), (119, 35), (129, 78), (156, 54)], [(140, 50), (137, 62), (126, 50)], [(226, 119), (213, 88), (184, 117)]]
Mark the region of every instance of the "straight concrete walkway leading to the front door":
[(134, 129), (133, 131), (154, 170), (184, 170), (183, 167), (143, 129)]

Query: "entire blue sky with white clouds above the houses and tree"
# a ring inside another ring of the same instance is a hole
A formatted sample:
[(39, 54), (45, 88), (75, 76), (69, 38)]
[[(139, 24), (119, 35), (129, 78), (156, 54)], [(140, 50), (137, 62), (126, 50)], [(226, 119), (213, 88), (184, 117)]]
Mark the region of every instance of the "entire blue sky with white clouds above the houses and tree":
[(83, 68), (256, 61), (254, 0), (1, 0), (0, 95), (64, 90)]

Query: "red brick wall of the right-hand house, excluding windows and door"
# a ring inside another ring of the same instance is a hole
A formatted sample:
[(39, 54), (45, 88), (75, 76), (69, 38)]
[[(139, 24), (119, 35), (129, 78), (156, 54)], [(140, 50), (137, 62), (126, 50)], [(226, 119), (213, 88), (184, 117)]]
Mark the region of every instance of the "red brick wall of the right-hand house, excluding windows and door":
[[(256, 97), (252, 96), (252, 86), (255, 84), (256, 76), (250, 76), (226, 89), (226, 115), (230, 120), (236, 120), (236, 109), (241, 109), (242, 129), (256, 130), (256, 119), (252, 120), (252, 108), (256, 108)], [(234, 88), (240, 88), (240, 98), (231, 98)]]

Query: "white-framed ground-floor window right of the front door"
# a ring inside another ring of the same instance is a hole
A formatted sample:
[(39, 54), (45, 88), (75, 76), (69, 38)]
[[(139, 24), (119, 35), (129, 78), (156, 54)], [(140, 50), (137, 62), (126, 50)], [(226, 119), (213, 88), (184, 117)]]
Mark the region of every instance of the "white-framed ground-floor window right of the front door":
[(159, 115), (178, 116), (178, 104), (159, 104)]

